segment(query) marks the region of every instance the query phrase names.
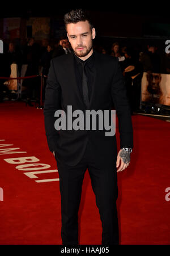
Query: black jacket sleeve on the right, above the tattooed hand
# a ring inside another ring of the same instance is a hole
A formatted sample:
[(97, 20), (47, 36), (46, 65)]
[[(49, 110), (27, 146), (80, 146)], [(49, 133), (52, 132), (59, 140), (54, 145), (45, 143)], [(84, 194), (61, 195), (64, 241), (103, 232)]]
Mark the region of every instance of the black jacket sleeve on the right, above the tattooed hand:
[(133, 148), (133, 126), (131, 121), (130, 103), (118, 58), (115, 61), (116, 72), (112, 80), (112, 99), (118, 117), (120, 148)]

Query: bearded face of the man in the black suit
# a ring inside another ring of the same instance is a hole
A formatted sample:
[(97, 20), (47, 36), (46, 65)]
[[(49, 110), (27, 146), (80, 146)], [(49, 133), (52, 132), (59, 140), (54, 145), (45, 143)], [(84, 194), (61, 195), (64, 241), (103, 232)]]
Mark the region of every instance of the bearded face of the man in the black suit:
[(67, 36), (71, 47), (78, 57), (85, 57), (92, 51), (92, 40), (95, 38), (95, 28), (89, 22), (67, 24)]

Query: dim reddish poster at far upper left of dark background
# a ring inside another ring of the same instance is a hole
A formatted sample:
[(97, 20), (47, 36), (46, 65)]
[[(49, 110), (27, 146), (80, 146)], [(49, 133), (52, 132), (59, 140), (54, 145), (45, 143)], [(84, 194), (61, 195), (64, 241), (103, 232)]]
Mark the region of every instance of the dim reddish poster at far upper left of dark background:
[(3, 19), (4, 39), (15, 39), (20, 37), (20, 18)]

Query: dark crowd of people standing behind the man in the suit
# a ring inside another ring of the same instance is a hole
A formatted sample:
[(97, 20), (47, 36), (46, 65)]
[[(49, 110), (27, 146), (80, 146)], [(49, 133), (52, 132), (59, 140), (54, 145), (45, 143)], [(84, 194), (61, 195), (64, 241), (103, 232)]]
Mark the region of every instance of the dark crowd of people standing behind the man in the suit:
[[(141, 98), (141, 79), (143, 72), (161, 72), (161, 59), (157, 53), (157, 47), (154, 44), (148, 45), (146, 51), (135, 52), (134, 49), (121, 46), (114, 42), (110, 49), (101, 45), (94, 45), (96, 51), (102, 54), (109, 54), (117, 57), (122, 73), (125, 78), (125, 85), (129, 97), (131, 114), (139, 109)], [(44, 39), (41, 44), (37, 43), (33, 37), (29, 38), (23, 47), (17, 47), (11, 41), (8, 43), (4, 54), (0, 54), (0, 77), (10, 77), (11, 64), (17, 64), (18, 75), (31, 76), (42, 74), (44, 78), (47, 77), (52, 58), (61, 56), (62, 54), (69, 54), (73, 50), (67, 36), (62, 36), (56, 43), (50, 43), (49, 40)], [(170, 74), (170, 54), (166, 54), (164, 61), (164, 70)], [(46, 79), (44, 79), (44, 92), (46, 86)], [(10, 98), (10, 91), (3, 83), (5, 79), (0, 79), (0, 102), (5, 97)], [(40, 79), (35, 77), (32, 79), (24, 79), (22, 82), (22, 98), (29, 106), (33, 106), (32, 99), (39, 100), (40, 97)], [(43, 94), (44, 96), (45, 94)]]

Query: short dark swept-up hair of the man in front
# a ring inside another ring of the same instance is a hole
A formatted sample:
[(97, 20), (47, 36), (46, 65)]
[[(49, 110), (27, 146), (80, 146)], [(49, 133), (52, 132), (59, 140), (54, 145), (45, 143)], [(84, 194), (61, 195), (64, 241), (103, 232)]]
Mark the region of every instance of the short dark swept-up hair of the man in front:
[(65, 26), (67, 26), (69, 23), (85, 22), (86, 20), (90, 24), (90, 28), (92, 30), (94, 26), (92, 25), (90, 15), (86, 10), (75, 9), (67, 12), (67, 14), (64, 16)]

